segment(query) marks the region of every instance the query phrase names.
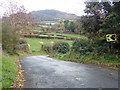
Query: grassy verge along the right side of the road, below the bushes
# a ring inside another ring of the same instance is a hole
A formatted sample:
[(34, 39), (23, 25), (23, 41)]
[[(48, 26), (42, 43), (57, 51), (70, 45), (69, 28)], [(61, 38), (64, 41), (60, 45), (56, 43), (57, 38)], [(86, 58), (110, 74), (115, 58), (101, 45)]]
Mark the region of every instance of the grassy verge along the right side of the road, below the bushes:
[(120, 66), (120, 55), (109, 55), (109, 54), (97, 55), (95, 53), (80, 55), (79, 53), (68, 52), (66, 54), (54, 53), (54, 54), (50, 54), (50, 56), (65, 61), (108, 66), (113, 69), (119, 69)]

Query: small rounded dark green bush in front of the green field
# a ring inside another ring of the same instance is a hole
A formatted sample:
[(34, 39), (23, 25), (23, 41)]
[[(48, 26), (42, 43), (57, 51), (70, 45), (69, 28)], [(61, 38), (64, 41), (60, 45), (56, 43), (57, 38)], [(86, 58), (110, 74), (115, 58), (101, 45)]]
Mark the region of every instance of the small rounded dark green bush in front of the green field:
[(67, 42), (57, 42), (53, 45), (53, 50), (58, 53), (66, 53), (70, 50), (70, 46)]

